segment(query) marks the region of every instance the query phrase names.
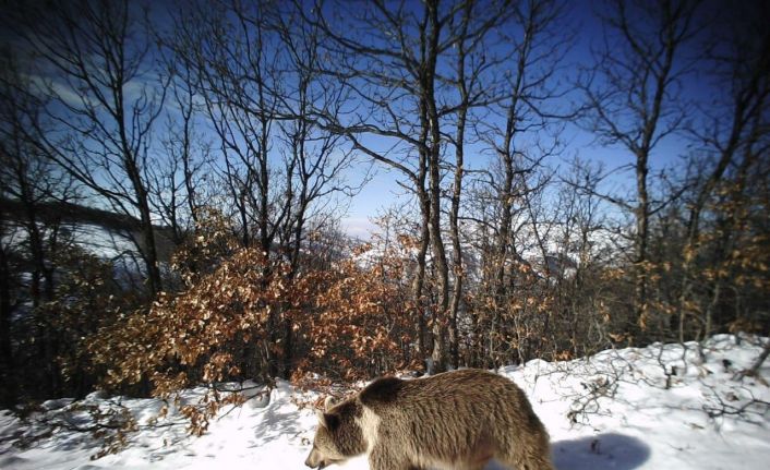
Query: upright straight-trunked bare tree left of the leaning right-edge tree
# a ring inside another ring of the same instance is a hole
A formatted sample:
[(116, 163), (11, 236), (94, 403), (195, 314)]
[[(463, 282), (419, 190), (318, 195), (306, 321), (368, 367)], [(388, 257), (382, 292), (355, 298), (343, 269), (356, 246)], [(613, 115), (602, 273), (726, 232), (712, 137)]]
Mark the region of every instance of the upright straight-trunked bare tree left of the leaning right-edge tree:
[(685, 48), (695, 37), (698, 2), (662, 0), (654, 3), (613, 0), (602, 16), (604, 37), (595, 65), (579, 83), (586, 96), (585, 125), (606, 145), (630, 153), (636, 180), (631, 201), (609, 197), (635, 218), (634, 316), (648, 318), (648, 239), (650, 217), (662, 207), (650, 195), (650, 158), (666, 136), (679, 131), (684, 106), (676, 99), (679, 80), (690, 63)]

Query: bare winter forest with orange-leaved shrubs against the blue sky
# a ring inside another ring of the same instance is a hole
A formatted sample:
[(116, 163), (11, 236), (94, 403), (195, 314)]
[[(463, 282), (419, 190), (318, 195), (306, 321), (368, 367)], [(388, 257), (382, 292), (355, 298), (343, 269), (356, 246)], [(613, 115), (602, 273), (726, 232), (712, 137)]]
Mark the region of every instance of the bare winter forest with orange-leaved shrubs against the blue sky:
[(2, 10), (3, 408), (770, 334), (765, 2)]

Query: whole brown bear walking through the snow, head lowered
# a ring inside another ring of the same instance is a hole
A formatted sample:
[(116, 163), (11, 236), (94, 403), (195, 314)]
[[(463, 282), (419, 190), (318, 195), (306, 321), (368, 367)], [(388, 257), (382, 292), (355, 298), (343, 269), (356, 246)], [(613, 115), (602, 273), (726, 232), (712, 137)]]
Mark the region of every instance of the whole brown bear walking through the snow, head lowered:
[(512, 470), (553, 469), (548, 432), (525, 393), (480, 370), (380, 378), (318, 411), (308, 467), (362, 454), (372, 470), (480, 470), (492, 459)]

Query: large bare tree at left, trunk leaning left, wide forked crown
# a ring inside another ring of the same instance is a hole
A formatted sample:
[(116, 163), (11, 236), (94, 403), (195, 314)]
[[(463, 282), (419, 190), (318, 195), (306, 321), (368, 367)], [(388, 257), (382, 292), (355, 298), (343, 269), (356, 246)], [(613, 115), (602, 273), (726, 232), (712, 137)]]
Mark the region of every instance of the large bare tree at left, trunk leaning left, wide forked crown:
[(104, 204), (139, 217), (135, 243), (155, 296), (163, 285), (146, 172), (167, 82), (137, 31), (141, 14), (129, 1), (32, 3), (14, 27), (39, 58), (40, 93), (56, 100), (47, 109), (58, 131), (41, 133), (44, 150)]

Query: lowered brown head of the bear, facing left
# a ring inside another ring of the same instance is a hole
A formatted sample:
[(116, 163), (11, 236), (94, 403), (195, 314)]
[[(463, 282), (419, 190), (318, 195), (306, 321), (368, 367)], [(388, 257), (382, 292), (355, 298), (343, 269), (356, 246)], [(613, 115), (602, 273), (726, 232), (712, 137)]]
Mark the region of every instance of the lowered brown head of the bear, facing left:
[(354, 400), (347, 400), (335, 407), (327, 400), (326, 411), (316, 410), (318, 427), (315, 431), (313, 449), (304, 465), (323, 469), (363, 454), (366, 443), (356, 420), (361, 414), (360, 410), (360, 405)]

